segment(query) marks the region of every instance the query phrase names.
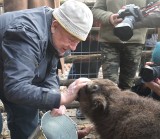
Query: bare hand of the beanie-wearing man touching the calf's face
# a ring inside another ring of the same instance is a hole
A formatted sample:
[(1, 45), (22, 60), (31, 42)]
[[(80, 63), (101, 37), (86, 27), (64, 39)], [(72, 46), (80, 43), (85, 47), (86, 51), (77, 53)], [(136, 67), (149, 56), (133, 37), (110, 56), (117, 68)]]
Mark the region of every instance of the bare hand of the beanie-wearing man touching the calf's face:
[(75, 100), (78, 96), (79, 90), (87, 85), (90, 81), (88, 78), (79, 78), (71, 83), (66, 92), (61, 93), (61, 105), (66, 105)]

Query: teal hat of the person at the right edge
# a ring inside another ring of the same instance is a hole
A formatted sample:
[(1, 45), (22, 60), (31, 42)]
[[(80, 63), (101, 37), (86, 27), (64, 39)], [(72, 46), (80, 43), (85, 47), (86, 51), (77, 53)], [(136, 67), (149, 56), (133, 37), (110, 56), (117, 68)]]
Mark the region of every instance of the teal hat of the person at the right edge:
[(157, 42), (155, 48), (153, 49), (152, 61), (154, 64), (160, 65), (160, 42)]

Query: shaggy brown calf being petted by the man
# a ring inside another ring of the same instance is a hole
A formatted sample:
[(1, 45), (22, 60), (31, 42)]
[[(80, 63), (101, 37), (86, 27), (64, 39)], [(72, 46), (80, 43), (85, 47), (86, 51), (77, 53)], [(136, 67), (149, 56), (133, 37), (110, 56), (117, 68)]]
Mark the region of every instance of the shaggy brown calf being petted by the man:
[(97, 79), (79, 92), (82, 112), (101, 139), (160, 139), (160, 102)]

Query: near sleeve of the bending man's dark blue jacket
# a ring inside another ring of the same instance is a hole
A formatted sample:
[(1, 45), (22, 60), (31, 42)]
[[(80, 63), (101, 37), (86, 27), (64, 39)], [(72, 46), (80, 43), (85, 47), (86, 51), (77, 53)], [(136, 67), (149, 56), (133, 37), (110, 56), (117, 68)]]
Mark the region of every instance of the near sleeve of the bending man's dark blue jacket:
[[(59, 86), (52, 89), (32, 84), (40, 52), (40, 39), (31, 28), (19, 26), (6, 31), (2, 42), (4, 95), (17, 104), (40, 109), (58, 108)], [(52, 80), (57, 82), (56, 76)]]

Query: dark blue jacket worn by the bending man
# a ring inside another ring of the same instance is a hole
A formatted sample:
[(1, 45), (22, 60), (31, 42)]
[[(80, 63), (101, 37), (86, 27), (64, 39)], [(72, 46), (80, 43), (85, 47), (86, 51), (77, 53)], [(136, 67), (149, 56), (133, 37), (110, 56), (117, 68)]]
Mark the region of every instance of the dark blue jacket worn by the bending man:
[(59, 107), (59, 57), (51, 41), (52, 11), (40, 7), (0, 16), (2, 100), (46, 110)]

